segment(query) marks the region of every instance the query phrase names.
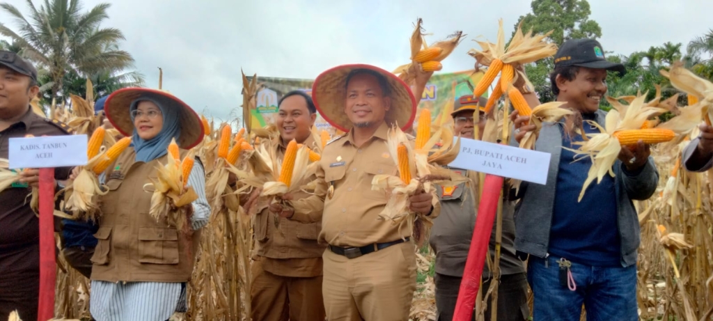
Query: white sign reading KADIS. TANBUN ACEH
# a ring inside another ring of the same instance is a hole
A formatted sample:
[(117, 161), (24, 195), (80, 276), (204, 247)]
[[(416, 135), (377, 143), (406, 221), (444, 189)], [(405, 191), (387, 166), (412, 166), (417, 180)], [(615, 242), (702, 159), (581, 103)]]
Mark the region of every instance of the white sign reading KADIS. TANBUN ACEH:
[(54, 168), (86, 165), (87, 136), (10, 138), (10, 168)]

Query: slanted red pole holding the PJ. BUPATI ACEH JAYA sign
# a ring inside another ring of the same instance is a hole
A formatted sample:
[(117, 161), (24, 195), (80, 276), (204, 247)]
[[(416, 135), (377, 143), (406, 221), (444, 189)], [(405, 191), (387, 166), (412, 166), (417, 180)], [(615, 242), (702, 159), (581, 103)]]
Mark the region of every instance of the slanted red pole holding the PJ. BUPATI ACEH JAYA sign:
[(468, 249), (466, 267), (463, 270), (461, 288), (458, 290), (456, 311), (453, 312), (453, 321), (470, 321), (473, 307), (476, 305), (476, 295), (481, 286), (483, 265), (485, 265), (488, 243), (493, 231), (493, 221), (498, 212), (498, 200), (503, 189), (503, 178), (496, 175), (486, 175), (483, 183), (481, 203), (478, 205), (476, 227), (473, 229), (471, 248)]

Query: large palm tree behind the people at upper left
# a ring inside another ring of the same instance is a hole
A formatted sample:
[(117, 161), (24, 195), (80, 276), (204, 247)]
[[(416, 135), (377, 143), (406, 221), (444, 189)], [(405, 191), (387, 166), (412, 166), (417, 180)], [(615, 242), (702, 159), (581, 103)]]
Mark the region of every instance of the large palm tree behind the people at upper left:
[[(16, 42), (22, 55), (39, 63), (48, 71), (52, 82), (51, 97), (68, 96), (63, 93), (66, 73), (74, 70), (83, 75), (103, 71), (121, 71), (132, 66), (133, 58), (126, 51), (105, 51), (124, 36), (118, 29), (99, 26), (108, 18), (110, 4), (98, 4), (82, 13), (80, 0), (45, 0), (37, 9), (26, 0), (29, 19), (11, 4), (0, 4), (18, 26), (18, 32), (0, 23), (0, 35)], [(61, 93), (61, 95), (60, 95)]]

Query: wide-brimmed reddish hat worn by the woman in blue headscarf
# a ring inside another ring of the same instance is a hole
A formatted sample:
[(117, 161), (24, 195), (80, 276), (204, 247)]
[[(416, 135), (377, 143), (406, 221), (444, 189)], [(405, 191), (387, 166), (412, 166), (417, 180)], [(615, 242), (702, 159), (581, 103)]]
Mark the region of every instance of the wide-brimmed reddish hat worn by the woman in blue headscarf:
[(190, 149), (203, 140), (203, 126), (198, 114), (176, 96), (167, 91), (148, 88), (123, 88), (114, 91), (104, 106), (104, 113), (111, 125), (123, 136), (131, 136), (134, 126), (129, 113), (131, 103), (138, 98), (148, 98), (161, 103), (163, 108), (180, 110), (180, 138), (176, 143), (180, 148)]

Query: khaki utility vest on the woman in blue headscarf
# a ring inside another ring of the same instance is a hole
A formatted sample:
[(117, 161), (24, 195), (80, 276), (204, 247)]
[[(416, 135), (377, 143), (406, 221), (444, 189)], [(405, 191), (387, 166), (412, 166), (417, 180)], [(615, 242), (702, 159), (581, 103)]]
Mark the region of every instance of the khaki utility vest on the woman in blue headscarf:
[[(187, 151), (180, 151), (181, 157)], [(168, 156), (135, 162), (127, 148), (105, 172), (109, 192), (101, 197), (98, 244), (91, 261), (92, 280), (109, 282), (187, 282), (198, 250), (200, 233), (182, 235), (148, 211), (151, 195), (143, 185), (155, 179), (156, 167)]]

